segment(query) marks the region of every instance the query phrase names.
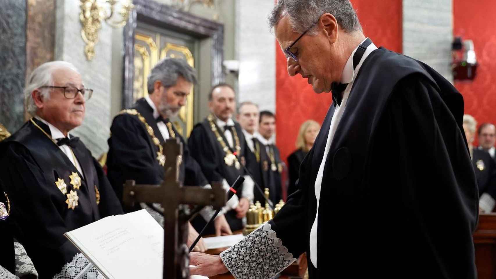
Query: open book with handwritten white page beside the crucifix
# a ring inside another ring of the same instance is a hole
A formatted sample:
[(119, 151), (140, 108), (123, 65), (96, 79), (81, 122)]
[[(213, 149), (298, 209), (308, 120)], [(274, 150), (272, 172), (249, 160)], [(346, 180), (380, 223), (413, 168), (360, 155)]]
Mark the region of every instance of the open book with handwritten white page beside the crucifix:
[(109, 279), (163, 278), (164, 229), (144, 209), (64, 235)]

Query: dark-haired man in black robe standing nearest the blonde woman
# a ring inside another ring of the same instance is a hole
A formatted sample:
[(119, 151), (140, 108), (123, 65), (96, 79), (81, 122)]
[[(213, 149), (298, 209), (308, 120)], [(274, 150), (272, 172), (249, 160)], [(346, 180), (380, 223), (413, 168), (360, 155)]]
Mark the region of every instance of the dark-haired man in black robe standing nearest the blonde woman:
[[(269, 188), (269, 199), (275, 205), (282, 199), (281, 173), (283, 162), (279, 148), (274, 144), (274, 133), (276, 130), (276, 116), (269, 111), (261, 111), (258, 125), (257, 139), (265, 148), (268, 160), (263, 164), (263, 175), (267, 180)], [(258, 196), (255, 193), (255, 198)]]

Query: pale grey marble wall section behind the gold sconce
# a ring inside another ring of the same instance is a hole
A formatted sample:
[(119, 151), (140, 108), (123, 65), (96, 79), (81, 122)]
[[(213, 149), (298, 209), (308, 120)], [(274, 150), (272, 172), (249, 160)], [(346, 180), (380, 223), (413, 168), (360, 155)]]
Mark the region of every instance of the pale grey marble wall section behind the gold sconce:
[(93, 97), (86, 102), (84, 122), (71, 133), (79, 136), (98, 158), (109, 149), (111, 78), (113, 74), (122, 75), (122, 71), (112, 72), (112, 29), (105, 22), (102, 22), (99, 41), (95, 45), (95, 57), (86, 60), (79, 10), (79, 1), (56, 2), (55, 59), (73, 63), (79, 69), (85, 87), (93, 89)]

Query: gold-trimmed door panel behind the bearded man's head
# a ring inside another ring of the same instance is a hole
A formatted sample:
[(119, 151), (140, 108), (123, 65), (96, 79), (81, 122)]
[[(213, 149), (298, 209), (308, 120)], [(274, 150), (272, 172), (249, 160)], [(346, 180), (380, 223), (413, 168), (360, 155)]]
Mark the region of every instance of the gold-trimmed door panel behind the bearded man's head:
[[(148, 96), (148, 75), (161, 59), (166, 57), (186, 59), (190, 66), (195, 67), (195, 60), (198, 60), (195, 59), (196, 46), (195, 39), (188, 35), (138, 23), (134, 36), (133, 101)], [(179, 111), (177, 117), (171, 119), (185, 138), (193, 129), (194, 95), (193, 86), (186, 105)]]

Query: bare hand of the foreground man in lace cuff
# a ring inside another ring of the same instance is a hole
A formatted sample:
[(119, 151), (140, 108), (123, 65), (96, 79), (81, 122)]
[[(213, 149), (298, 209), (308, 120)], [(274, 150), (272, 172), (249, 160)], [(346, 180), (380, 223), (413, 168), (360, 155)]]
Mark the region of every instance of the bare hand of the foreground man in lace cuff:
[(194, 266), (189, 268), (189, 275), (216, 276), (228, 272), (220, 256), (189, 253), (189, 264)]

